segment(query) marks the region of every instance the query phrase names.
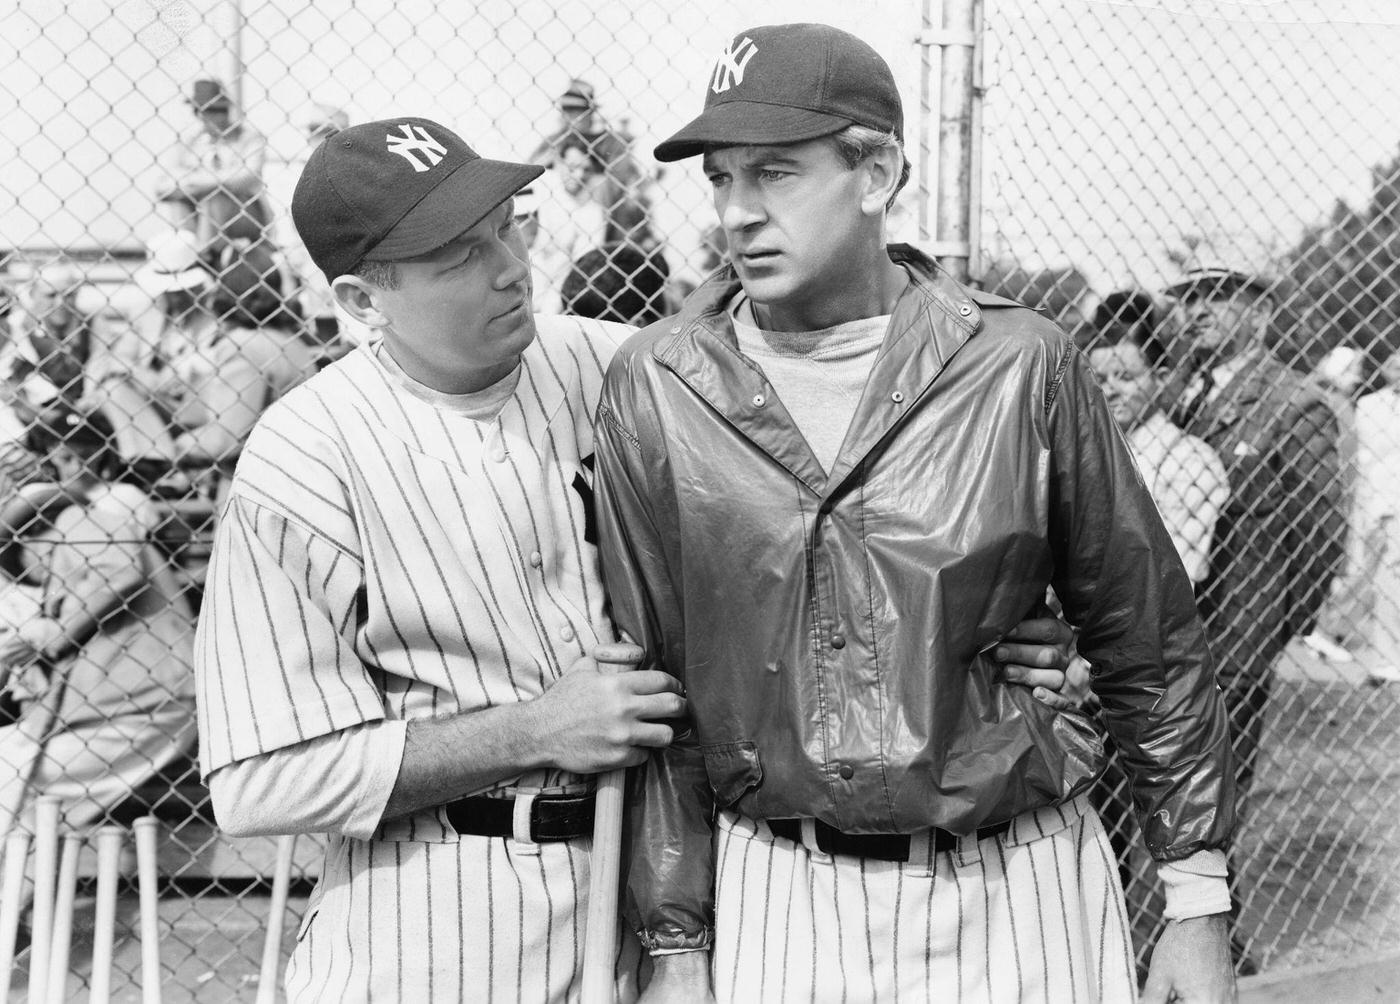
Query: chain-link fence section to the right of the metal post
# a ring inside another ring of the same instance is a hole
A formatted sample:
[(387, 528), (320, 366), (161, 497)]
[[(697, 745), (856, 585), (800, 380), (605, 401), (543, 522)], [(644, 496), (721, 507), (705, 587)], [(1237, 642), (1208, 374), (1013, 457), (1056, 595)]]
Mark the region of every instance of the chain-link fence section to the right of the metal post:
[(1246, 791), (1236, 958), (1393, 948), (1400, 17), (1002, 0), (986, 27), (980, 274), (1086, 347), (1198, 581)]

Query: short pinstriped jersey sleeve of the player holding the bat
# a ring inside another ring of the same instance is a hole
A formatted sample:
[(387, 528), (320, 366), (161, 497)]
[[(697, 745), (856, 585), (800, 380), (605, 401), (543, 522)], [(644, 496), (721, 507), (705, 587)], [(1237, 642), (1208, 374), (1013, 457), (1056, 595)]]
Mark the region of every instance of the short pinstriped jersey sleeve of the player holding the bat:
[(346, 543), (249, 500), (235, 482), (195, 637), (204, 776), (388, 717), (354, 647), (363, 587)]

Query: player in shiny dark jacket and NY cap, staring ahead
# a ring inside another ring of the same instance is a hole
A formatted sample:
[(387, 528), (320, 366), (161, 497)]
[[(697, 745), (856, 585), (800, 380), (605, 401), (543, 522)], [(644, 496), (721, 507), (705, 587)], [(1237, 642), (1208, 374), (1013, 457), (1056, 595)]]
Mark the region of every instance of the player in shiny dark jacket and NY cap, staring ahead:
[(1071, 339), (886, 246), (902, 130), (868, 45), (776, 25), (657, 147), (703, 157), (732, 267), (619, 351), (596, 420), (613, 616), (694, 723), (634, 812), (648, 998), (1135, 997), (1102, 744), (987, 660), (1047, 585), (1163, 863), (1147, 996), (1229, 998), (1190, 580)]

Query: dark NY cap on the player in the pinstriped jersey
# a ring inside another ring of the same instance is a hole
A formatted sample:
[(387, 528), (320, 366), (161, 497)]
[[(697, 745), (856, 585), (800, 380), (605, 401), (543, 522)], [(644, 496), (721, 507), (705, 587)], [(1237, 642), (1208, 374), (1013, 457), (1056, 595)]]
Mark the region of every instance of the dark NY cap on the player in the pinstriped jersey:
[(441, 248), (543, 174), (493, 161), (428, 119), (365, 122), (311, 154), (291, 220), (326, 279)]

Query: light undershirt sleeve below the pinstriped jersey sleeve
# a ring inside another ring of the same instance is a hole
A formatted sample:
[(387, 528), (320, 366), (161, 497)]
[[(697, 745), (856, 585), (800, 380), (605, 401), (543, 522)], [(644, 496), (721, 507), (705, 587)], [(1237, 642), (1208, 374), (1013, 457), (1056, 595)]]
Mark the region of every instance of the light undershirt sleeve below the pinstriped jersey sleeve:
[(407, 732), (406, 721), (375, 721), (220, 767), (209, 777), (220, 829), (368, 840), (393, 794)]

